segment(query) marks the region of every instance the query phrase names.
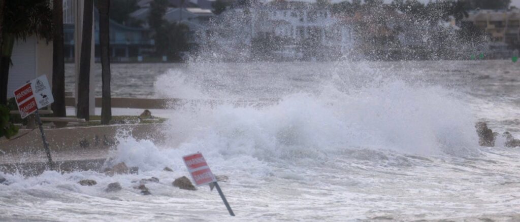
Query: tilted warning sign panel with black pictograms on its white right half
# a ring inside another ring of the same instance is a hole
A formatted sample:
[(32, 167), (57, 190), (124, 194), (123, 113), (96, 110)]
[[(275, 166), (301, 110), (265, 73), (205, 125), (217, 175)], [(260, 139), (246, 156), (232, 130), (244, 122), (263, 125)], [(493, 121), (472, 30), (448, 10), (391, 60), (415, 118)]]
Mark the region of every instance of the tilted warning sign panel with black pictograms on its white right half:
[(15, 100), (22, 118), (53, 103), (53, 93), (50, 91), (47, 77), (43, 75), (35, 78), (15, 90)]

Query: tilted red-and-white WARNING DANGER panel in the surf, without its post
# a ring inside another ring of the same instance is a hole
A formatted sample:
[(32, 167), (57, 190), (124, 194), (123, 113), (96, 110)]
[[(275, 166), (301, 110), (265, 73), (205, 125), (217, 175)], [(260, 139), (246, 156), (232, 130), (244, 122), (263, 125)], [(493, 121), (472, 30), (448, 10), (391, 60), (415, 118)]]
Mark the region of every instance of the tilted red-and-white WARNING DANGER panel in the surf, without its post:
[(183, 159), (190, 172), (191, 178), (197, 186), (217, 182), (217, 179), (210, 170), (210, 166), (207, 165), (206, 160), (200, 152), (184, 156)]

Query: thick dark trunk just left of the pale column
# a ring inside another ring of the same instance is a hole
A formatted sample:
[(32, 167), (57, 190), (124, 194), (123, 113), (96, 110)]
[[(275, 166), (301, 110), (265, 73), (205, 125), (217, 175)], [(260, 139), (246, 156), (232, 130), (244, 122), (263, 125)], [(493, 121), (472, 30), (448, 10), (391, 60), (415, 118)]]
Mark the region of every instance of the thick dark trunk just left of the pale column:
[(53, 3), (53, 96), (54, 116), (66, 117), (65, 109), (65, 63), (63, 60), (63, 1)]

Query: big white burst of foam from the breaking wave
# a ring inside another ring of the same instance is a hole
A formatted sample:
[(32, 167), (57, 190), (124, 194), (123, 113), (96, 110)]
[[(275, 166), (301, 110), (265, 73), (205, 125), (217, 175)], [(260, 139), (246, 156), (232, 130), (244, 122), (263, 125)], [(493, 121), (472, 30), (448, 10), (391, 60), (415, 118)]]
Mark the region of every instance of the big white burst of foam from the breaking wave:
[(297, 152), (322, 157), (355, 148), (465, 155), (477, 145), (475, 118), (452, 93), (383, 81), (349, 92), (329, 87), (317, 94), (291, 94), (260, 108), (190, 104), (172, 114), (171, 137), (185, 135), (180, 147), (196, 144), (260, 160), (292, 158)]

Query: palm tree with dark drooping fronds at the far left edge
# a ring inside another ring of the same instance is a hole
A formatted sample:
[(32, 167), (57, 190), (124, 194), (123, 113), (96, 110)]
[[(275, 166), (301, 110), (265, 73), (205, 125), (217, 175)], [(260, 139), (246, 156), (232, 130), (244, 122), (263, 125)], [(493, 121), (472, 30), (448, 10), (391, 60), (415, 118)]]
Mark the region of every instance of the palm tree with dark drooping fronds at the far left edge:
[(36, 35), (51, 40), (53, 12), (47, 0), (3, 1), (2, 52), (0, 58), (0, 104), (7, 103), (7, 82), (15, 40)]

